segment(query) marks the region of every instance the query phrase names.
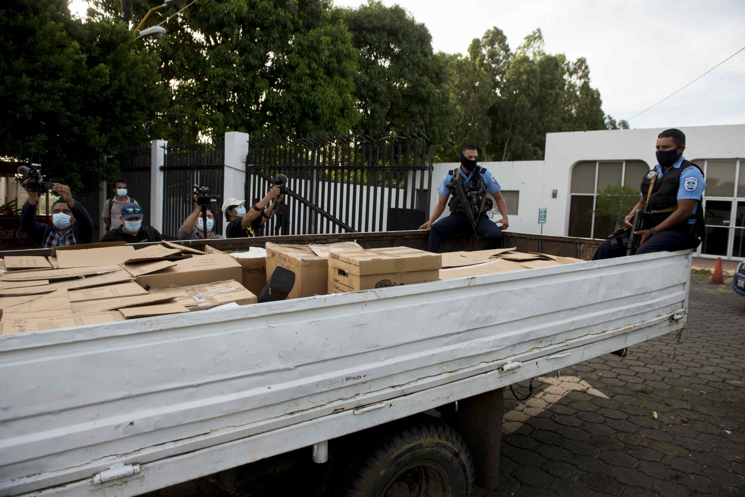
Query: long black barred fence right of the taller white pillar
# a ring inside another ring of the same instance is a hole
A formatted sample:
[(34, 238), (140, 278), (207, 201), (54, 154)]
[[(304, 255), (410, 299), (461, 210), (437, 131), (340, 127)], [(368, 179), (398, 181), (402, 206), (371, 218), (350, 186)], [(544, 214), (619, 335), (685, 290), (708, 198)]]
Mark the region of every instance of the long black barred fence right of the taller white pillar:
[(267, 221), (272, 234), (329, 234), (416, 229), (429, 214), (434, 147), (424, 132), (250, 139), (246, 203), (288, 177), (284, 217)]

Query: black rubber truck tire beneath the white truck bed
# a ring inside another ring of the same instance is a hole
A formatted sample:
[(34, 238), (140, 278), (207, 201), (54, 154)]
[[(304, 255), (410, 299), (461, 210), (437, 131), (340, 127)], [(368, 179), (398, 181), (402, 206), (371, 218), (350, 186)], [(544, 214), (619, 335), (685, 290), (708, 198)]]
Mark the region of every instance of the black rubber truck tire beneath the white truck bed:
[(352, 466), (343, 497), (470, 497), (474, 469), (466, 442), (445, 423), (388, 432)]

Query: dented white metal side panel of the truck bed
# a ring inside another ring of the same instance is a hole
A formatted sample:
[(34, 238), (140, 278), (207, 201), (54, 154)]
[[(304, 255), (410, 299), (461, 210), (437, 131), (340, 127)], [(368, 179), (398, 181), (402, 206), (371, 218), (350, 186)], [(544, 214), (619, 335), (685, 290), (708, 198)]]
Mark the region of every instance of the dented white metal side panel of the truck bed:
[(681, 329), (690, 269), (662, 252), (0, 336), (0, 496), (134, 496), (565, 368)]

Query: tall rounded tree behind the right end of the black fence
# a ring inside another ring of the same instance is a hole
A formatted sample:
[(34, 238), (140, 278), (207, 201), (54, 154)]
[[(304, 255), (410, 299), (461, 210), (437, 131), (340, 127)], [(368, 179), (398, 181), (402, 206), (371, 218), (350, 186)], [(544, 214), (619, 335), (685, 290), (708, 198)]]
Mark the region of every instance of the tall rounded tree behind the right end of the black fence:
[(425, 25), (398, 5), (373, 0), (335, 15), (349, 28), (359, 54), (356, 129), (380, 135), (424, 128), (434, 142), (442, 141), (451, 115), (446, 63), (433, 53)]

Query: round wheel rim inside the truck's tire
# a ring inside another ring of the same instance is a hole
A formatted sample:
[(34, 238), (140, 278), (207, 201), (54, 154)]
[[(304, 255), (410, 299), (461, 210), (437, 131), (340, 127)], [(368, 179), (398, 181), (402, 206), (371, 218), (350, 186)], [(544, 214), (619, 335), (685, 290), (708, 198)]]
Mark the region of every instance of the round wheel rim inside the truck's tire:
[(454, 497), (447, 470), (437, 461), (416, 461), (396, 473), (380, 497)]

